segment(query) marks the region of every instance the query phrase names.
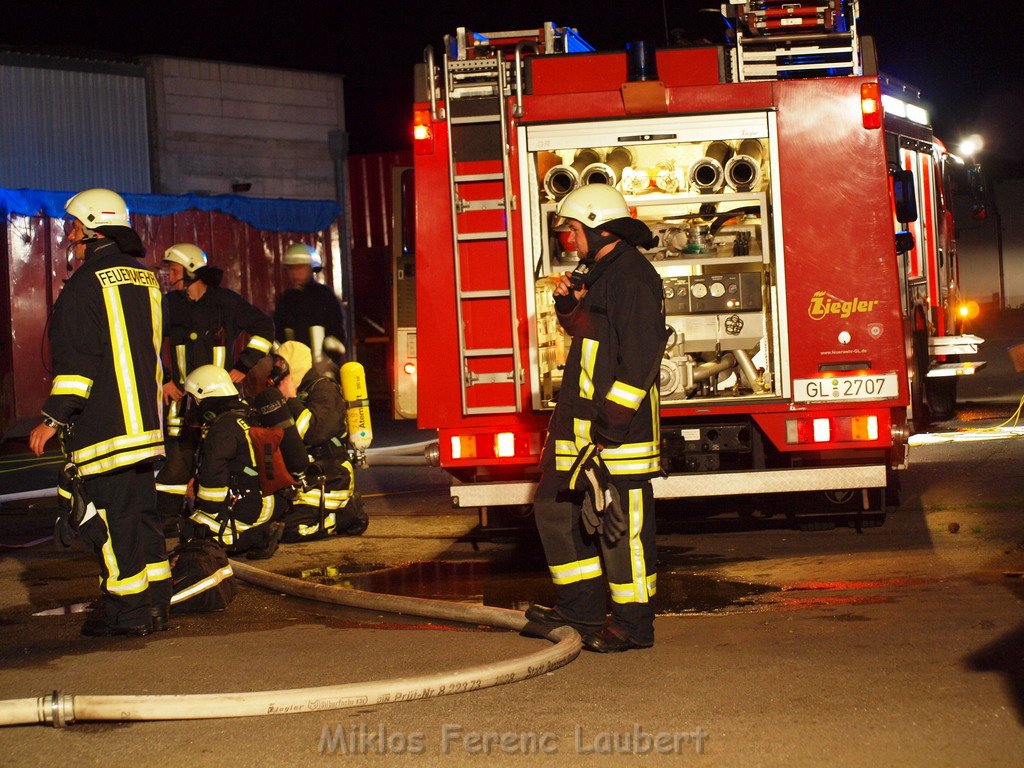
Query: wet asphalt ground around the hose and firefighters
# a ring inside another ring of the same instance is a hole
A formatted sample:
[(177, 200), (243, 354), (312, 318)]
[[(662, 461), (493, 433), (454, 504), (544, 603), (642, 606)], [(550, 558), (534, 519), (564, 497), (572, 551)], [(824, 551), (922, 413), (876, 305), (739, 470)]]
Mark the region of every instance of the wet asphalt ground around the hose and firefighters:
[[(1024, 377), (1001, 359), (1004, 341), (990, 338), (989, 371), (964, 382), (956, 419), (935, 429), (1013, 414)], [(336, 712), (14, 726), (0, 730), (0, 764), (1020, 765), (1022, 460), (1020, 439), (914, 447), (901, 507), (860, 532), (852, 517), (799, 530), (778, 505), (742, 517), (659, 511), (649, 650), (584, 653), (513, 685)], [(528, 524), (481, 529), (451, 509), (437, 470), (378, 467), (359, 481), (366, 535), (283, 547), (258, 564), (467, 603), (550, 600)], [(226, 611), (178, 616), (168, 633), (87, 639), (74, 611), (95, 590), (91, 557), (16, 546), (47, 537), (51, 520), (46, 500), (0, 509), (0, 700), (370, 681), (544, 642), (245, 584)]]

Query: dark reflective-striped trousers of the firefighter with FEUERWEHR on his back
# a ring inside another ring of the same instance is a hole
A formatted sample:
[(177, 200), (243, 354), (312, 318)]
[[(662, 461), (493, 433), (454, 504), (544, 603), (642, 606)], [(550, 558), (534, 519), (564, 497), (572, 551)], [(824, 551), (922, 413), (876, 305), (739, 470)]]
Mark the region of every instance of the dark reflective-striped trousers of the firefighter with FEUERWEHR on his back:
[(79, 530), (99, 561), (99, 591), (106, 623), (146, 624), (150, 606), (171, 599), (171, 567), (157, 511), (153, 465), (85, 478), (96, 514)]

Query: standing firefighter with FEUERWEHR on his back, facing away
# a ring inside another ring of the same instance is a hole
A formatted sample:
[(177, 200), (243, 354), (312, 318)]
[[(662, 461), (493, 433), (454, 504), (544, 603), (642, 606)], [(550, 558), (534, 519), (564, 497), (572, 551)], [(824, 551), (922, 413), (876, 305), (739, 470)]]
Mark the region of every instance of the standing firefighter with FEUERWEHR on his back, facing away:
[(136, 261), (145, 249), (121, 196), (86, 189), (65, 210), (80, 264), (53, 305), (53, 385), (30, 446), (40, 455), (61, 433), (61, 477), (76, 478), (61, 483), (63, 509), (75, 514), (58, 529), (81, 536), (99, 561), (100, 609), (82, 634), (147, 635), (167, 629), (171, 598), (153, 479), (164, 454), (163, 294), (156, 273)]

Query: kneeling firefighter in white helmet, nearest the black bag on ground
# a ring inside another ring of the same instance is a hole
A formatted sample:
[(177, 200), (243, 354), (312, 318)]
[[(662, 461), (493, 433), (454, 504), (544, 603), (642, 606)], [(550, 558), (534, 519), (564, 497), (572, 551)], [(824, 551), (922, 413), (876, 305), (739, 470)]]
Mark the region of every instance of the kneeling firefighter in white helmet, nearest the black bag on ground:
[[(259, 463), (266, 457), (253, 437), (254, 427), (259, 424), (257, 415), (242, 400), (230, 375), (219, 366), (201, 366), (188, 374), (184, 383), (183, 419), (200, 427), (202, 439), (196, 508), (182, 525), (181, 539), (212, 537), (228, 554), (245, 553), (254, 560), (270, 557), (285, 530), (274, 513), (280, 515), (283, 508), (287, 509), (288, 497), (285, 490), (264, 496), (266, 489), (260, 487)], [(288, 446), (289, 433), (300, 445), (297, 458), (285, 459), (289, 470), (303, 468), (305, 455), (284, 397), (270, 390), (258, 399), (263, 401), (254, 406), (263, 423), (284, 427), (282, 445)], [(279, 450), (285, 457), (296, 453)]]

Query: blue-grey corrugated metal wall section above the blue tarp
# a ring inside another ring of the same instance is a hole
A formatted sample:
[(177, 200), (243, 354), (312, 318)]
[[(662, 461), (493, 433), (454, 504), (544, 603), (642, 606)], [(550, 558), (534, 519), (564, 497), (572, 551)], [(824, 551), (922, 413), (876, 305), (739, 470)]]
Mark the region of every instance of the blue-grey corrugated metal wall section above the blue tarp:
[(141, 68), (80, 72), (0, 60), (0, 186), (151, 191)]

